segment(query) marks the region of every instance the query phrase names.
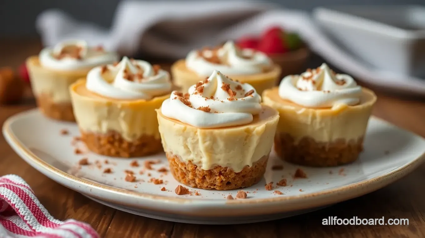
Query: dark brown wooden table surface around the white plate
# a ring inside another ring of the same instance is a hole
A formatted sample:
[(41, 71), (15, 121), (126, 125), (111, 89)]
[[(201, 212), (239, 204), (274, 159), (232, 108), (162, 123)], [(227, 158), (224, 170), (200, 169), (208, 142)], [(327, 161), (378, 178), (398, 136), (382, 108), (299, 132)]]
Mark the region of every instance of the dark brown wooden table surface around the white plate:
[[(38, 40), (0, 41), (0, 66), (17, 67), (41, 49)], [(397, 98), (375, 89), (373, 114), (399, 127), (425, 136), (425, 101)], [(34, 108), (27, 90), (18, 105), (0, 106), (0, 124), (11, 115)], [(425, 149), (425, 148), (424, 148)], [(30, 167), (0, 137), (0, 176), (17, 174), (33, 188), (56, 218), (74, 218), (91, 224), (101, 237), (425, 237), (425, 164), (388, 187), (306, 215), (242, 225), (193, 225), (144, 218), (98, 204), (52, 181)], [(54, 193), (52, 193), (54, 191)], [(340, 218), (408, 218), (408, 226), (323, 226), (328, 216)], [(162, 234), (162, 235), (161, 235)]]

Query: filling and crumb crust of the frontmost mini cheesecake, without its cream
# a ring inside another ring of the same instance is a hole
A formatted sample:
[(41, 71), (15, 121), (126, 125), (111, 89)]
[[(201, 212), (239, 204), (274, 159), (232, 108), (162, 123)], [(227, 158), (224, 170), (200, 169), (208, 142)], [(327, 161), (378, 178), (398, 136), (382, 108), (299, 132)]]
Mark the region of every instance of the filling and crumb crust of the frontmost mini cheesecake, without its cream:
[(201, 129), (156, 110), (162, 146), (174, 178), (190, 187), (230, 190), (261, 180), (278, 125), (278, 112), (263, 105), (253, 122)]

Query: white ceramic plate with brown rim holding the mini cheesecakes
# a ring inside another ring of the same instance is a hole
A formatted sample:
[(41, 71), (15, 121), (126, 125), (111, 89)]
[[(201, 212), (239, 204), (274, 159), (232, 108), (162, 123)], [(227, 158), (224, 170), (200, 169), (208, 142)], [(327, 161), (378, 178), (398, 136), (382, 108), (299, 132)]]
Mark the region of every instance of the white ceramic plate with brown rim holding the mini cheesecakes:
[[(62, 129), (68, 130), (69, 135), (61, 135)], [(32, 167), (102, 204), (148, 217), (202, 224), (246, 223), (300, 214), (384, 187), (410, 173), (425, 159), (422, 137), (372, 117), (365, 151), (355, 163), (332, 168), (300, 167), (283, 163), (272, 153), (263, 180), (243, 189), (249, 192), (248, 198), (227, 200), (227, 195), (235, 197), (238, 190), (190, 188), (192, 195), (176, 195), (174, 189), (178, 182), (170, 173), (164, 175), (156, 171), (167, 167), (164, 153), (138, 158), (140, 167), (130, 167), (132, 160), (129, 159), (112, 159), (93, 153), (77, 155), (76, 148), (86, 151), (81, 142), (71, 145), (73, 136), (79, 135), (77, 125), (46, 119), (37, 110), (9, 118), (3, 125), (3, 134)], [(83, 157), (91, 162), (101, 161), (102, 168), (92, 164), (75, 169)], [(104, 163), (106, 159), (109, 164)], [(161, 163), (153, 164), (154, 170), (147, 170), (143, 165), (146, 160), (160, 160)], [(272, 170), (275, 164), (283, 164), (284, 169)], [(102, 173), (107, 167), (113, 173)], [(298, 167), (308, 178), (292, 178)], [(124, 170), (136, 172), (138, 181), (125, 181)], [(140, 170), (144, 170), (143, 175), (138, 173)], [(164, 184), (150, 183), (150, 178), (160, 178)], [(281, 178), (287, 179), (288, 186), (276, 187), (275, 183)], [(267, 191), (264, 185), (270, 181), (275, 182), (274, 188)], [(161, 191), (161, 187), (166, 191)], [(274, 190), (283, 195), (275, 194)], [(195, 191), (201, 195), (195, 195)]]

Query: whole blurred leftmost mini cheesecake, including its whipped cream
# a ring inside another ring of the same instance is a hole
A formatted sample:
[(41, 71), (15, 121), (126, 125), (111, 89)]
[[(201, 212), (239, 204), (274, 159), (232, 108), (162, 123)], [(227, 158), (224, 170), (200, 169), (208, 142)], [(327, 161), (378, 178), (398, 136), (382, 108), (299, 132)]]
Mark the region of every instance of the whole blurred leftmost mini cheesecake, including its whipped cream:
[(83, 40), (61, 42), (44, 48), (26, 60), (31, 88), (45, 116), (75, 121), (68, 87), (91, 68), (117, 61), (118, 55), (101, 46), (89, 47)]

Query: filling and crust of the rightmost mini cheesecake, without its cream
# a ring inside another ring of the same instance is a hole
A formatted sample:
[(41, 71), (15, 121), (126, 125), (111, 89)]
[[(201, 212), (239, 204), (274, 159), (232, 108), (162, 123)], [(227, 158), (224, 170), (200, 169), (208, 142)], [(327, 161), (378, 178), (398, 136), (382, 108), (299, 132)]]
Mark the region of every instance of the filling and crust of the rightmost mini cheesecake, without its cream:
[(326, 167), (355, 161), (376, 102), (373, 91), (362, 88), (358, 105), (305, 108), (281, 99), (278, 88), (264, 91), (263, 103), (279, 111), (275, 151), (294, 164)]

